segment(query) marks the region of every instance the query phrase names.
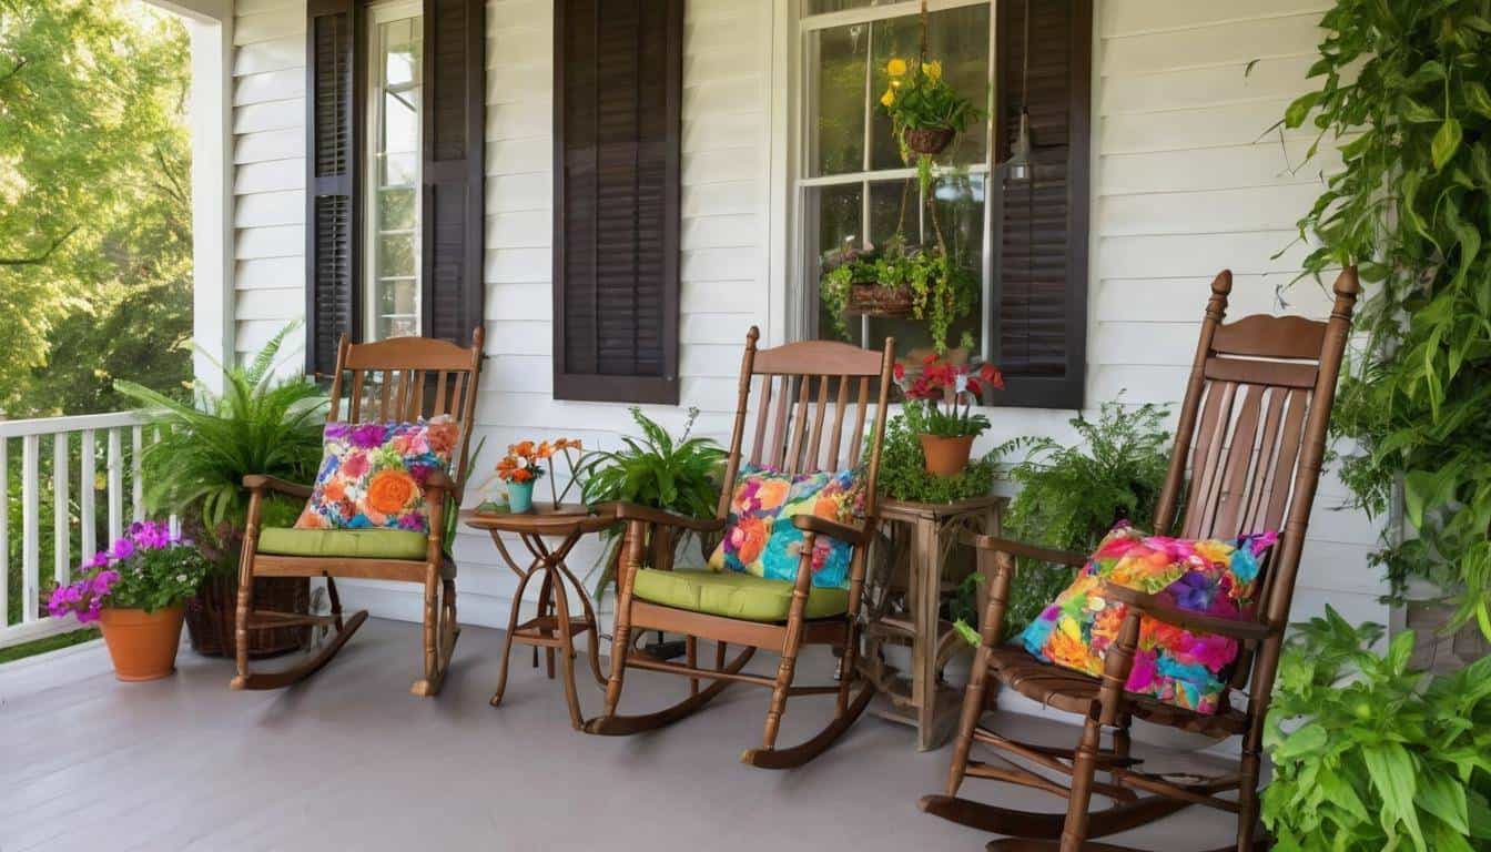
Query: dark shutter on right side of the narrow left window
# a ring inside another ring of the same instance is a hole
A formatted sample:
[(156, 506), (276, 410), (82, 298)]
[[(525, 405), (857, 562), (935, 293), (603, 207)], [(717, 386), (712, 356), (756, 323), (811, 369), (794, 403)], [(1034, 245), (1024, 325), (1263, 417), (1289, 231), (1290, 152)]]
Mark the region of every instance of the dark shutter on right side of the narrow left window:
[(471, 345), (482, 324), (485, 0), (425, 0), (423, 330)]

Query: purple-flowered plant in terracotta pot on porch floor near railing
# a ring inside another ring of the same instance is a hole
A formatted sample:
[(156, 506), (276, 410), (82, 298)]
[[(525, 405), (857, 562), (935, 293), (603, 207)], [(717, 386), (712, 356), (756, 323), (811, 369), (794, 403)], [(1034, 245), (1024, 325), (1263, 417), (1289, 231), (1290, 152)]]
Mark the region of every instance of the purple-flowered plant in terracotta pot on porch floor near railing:
[(212, 564), (166, 524), (137, 522), (82, 566), (82, 577), (57, 586), (46, 609), (98, 622), (119, 680), (157, 680), (176, 670), (183, 603)]

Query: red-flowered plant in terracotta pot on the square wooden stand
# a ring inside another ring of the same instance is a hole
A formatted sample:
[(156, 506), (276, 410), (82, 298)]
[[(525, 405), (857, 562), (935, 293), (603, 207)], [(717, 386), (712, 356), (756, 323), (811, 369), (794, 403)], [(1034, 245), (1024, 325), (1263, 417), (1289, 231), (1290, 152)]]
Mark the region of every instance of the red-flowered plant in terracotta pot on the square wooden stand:
[(907, 382), (907, 369), (896, 364), (896, 382), (907, 395), (902, 415), (921, 442), (927, 472), (953, 476), (968, 466), (974, 439), (989, 428), (989, 418), (974, 410), (983, 389), (1003, 389), (1005, 379), (993, 364), (977, 370), (927, 355), (921, 372)]

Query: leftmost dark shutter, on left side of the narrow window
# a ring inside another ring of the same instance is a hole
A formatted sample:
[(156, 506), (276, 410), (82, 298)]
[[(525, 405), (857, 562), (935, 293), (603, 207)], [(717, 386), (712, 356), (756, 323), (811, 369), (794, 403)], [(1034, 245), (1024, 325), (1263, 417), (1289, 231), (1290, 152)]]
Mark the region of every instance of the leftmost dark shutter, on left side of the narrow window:
[(337, 364), (337, 340), (356, 334), (356, 133), (352, 0), (310, 0), (306, 39), (306, 372)]

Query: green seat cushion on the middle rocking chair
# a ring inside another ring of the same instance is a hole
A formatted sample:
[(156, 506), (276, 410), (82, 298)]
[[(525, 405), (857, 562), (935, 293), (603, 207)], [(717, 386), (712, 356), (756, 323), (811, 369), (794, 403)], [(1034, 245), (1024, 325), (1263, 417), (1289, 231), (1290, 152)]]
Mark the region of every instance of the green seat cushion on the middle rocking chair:
[[(740, 618), (744, 621), (787, 621), (792, 583), (740, 571), (659, 571), (641, 568), (632, 594), (641, 600)], [(808, 618), (829, 618), (848, 612), (848, 589), (813, 586), (808, 592)]]

